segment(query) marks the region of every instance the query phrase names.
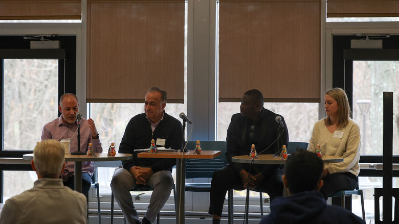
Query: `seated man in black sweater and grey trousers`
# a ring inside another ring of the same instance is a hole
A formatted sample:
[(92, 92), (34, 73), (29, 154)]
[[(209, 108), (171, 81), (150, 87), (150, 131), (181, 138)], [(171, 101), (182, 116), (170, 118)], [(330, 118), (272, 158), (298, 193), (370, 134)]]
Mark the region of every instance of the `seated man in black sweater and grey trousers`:
[(172, 167), (174, 159), (137, 158), (135, 149), (149, 148), (151, 139), (157, 146), (183, 148), (182, 123), (165, 113), (166, 91), (152, 87), (145, 95), (144, 111), (130, 119), (123, 134), (119, 153), (133, 154), (131, 160), (122, 161), (112, 178), (111, 187), (115, 200), (121, 207), (128, 223), (141, 223), (133, 205), (130, 189), (138, 185), (153, 188), (150, 203), (143, 217), (143, 224), (155, 221), (165, 205), (173, 187)]

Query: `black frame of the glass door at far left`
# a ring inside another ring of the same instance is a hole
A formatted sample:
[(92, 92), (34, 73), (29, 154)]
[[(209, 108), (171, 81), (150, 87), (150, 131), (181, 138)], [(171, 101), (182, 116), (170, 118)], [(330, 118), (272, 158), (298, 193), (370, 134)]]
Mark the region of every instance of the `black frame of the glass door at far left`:
[[(45, 33), (45, 32), (43, 32)], [(64, 92), (76, 92), (76, 46), (77, 46), (77, 35), (71, 36), (55, 36), (52, 40), (60, 40), (60, 49), (30, 49), (29, 41), (24, 41), (24, 36), (27, 35), (4, 35), (0, 36), (0, 60), (2, 64), (2, 78), (0, 79), (0, 85), (4, 85), (4, 60), (5, 59), (57, 59), (58, 60), (58, 101), (60, 96)], [(4, 90), (3, 90), (4, 91)], [(3, 118), (4, 118), (4, 92), (0, 92), (2, 98), (2, 109), (0, 116), (0, 127), (2, 127), (1, 134), (1, 148), (0, 157), (3, 158), (22, 158), (24, 154), (33, 152), (32, 150), (7, 150), (4, 148), (3, 141)], [(54, 108), (57, 110), (57, 108)], [(58, 116), (60, 113), (58, 112)], [(50, 121), (50, 120), (49, 120)], [(40, 133), (38, 133), (40, 135)], [(13, 171), (30, 171), (32, 167), (30, 164), (0, 164), (0, 193), (1, 203), (3, 201), (3, 189), (4, 189), (4, 173), (3, 170)]]

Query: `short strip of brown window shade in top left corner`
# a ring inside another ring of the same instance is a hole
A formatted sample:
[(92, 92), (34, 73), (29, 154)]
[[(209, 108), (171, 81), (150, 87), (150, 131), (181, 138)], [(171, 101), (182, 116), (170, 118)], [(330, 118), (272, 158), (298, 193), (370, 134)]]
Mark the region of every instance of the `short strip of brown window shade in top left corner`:
[(81, 0), (0, 0), (0, 19), (80, 19)]

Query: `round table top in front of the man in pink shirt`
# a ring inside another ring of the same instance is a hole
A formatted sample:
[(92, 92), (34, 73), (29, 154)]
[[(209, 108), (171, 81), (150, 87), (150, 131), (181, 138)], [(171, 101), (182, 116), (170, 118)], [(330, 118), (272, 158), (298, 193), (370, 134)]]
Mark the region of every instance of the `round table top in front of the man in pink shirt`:
[[(33, 159), (33, 153), (25, 154), (23, 156), (26, 160)], [(71, 155), (65, 154), (65, 161), (70, 162), (84, 162), (84, 161), (116, 161), (116, 160), (128, 160), (132, 159), (133, 155), (131, 154), (124, 154), (124, 153), (117, 153), (115, 156), (108, 156), (107, 153), (95, 153), (95, 156), (87, 156), (87, 155)]]

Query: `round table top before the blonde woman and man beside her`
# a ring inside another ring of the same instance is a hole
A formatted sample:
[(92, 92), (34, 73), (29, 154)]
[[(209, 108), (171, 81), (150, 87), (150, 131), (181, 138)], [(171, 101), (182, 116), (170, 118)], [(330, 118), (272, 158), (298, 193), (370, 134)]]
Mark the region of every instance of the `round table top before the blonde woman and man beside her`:
[[(258, 155), (259, 159), (254, 159), (254, 164), (285, 164), (286, 160), (282, 160), (281, 157), (273, 157), (272, 154), (263, 154), (263, 155)], [(335, 156), (322, 156), (321, 160), (323, 160), (324, 163), (340, 163), (344, 161), (343, 158), (341, 157), (335, 157)], [(233, 156), (231, 161), (236, 162), (236, 163), (251, 163), (252, 158), (244, 155), (244, 156)]]

